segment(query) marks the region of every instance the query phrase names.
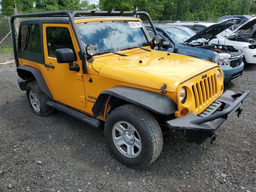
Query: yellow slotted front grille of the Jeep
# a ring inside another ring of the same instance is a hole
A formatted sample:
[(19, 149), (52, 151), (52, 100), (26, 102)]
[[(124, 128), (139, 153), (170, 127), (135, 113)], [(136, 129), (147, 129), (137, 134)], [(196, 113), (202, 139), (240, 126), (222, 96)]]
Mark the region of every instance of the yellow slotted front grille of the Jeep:
[(216, 94), (218, 94), (217, 86), (218, 84), (215, 74), (200, 80), (200, 82), (197, 82), (192, 86), (196, 109), (203, 106), (203, 104), (210, 102), (210, 100), (214, 100)]

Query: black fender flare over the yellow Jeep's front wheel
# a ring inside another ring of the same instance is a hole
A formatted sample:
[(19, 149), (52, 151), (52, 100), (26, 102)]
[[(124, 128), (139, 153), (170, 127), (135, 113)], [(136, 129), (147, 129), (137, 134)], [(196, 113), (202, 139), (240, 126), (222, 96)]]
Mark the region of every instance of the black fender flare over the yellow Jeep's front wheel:
[(100, 93), (92, 108), (92, 112), (95, 116), (105, 116), (105, 106), (109, 96), (115, 96), (160, 115), (174, 114), (174, 112), (177, 110), (176, 103), (163, 94), (136, 88), (118, 86), (104, 90)]

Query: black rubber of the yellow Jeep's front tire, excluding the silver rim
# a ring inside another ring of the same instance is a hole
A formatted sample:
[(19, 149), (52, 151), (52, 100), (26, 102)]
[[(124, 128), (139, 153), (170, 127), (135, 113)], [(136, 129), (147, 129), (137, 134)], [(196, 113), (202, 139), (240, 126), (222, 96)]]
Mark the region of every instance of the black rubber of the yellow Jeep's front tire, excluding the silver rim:
[[(112, 129), (116, 122), (130, 123), (140, 135), (142, 149), (135, 158), (124, 156), (115, 146), (112, 138)], [(152, 114), (146, 109), (134, 104), (126, 104), (114, 109), (105, 122), (106, 142), (114, 156), (126, 166), (142, 169), (154, 162), (163, 148), (161, 128)]]

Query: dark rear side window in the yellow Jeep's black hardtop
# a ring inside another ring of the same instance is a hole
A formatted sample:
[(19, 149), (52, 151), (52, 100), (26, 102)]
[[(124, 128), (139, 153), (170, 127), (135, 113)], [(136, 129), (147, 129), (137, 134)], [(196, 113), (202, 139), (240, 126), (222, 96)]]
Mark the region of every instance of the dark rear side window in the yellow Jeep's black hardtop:
[(39, 24), (24, 24), (20, 27), (19, 48), (34, 53), (41, 52)]

